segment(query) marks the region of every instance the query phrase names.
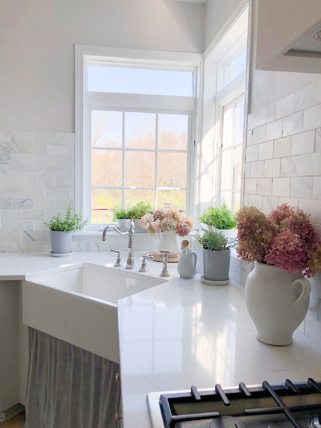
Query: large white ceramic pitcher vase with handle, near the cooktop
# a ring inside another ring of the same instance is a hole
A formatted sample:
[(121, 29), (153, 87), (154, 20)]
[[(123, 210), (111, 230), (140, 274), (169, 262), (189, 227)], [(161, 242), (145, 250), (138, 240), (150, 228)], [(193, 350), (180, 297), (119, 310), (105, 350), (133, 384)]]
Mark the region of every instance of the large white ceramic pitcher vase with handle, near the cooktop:
[(269, 345), (289, 345), (308, 311), (310, 291), (302, 274), (255, 262), (245, 283), (245, 303), (257, 338)]

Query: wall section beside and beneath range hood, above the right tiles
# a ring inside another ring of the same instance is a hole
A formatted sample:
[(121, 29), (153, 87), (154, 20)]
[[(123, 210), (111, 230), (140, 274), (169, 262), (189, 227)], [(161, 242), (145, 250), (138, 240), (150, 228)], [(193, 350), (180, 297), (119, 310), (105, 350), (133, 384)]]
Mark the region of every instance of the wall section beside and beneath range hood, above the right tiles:
[(317, 82), (321, 74), (263, 71), (255, 69), (258, 0), (253, 0), (251, 78), (249, 113), (260, 110), (280, 98), (290, 95), (310, 83)]

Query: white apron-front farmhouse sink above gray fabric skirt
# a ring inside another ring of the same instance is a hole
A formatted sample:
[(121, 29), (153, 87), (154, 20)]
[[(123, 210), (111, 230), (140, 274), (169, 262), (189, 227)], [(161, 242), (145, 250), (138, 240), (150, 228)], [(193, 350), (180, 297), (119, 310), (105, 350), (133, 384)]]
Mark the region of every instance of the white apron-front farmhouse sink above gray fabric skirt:
[(119, 363), (117, 300), (164, 279), (83, 263), (22, 282), (23, 323)]

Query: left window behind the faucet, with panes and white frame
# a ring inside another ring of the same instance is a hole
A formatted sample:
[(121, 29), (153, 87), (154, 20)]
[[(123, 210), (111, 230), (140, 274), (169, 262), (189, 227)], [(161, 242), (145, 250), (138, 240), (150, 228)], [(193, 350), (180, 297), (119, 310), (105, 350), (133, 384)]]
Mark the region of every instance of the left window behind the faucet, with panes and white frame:
[(75, 205), (86, 230), (142, 200), (196, 217), (201, 63), (197, 54), (76, 46)]

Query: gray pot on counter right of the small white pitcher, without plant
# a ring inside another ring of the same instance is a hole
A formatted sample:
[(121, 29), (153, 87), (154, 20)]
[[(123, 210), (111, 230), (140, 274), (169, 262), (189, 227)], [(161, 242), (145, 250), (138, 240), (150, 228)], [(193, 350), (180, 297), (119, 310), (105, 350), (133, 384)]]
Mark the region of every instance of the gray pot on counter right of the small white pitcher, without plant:
[(213, 251), (203, 248), (204, 279), (209, 281), (227, 281), (231, 250)]

